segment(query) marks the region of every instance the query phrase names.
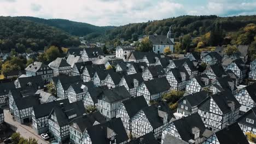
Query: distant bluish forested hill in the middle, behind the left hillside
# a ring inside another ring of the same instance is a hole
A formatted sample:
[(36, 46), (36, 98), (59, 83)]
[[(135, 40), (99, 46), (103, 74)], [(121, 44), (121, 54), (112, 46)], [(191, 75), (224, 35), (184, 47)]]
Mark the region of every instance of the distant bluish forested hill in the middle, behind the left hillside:
[(90, 25), (89, 23), (75, 22), (75, 21), (69, 21), (69, 20), (63, 20), (63, 19), (46, 20), (46, 19), (40, 19), (37, 17), (30, 17), (30, 16), (19, 16), (18, 18), (57, 27), (69, 34), (82, 36), (82, 37), (88, 34), (98, 36), (102, 33), (105, 33), (107, 30), (114, 28), (113, 26), (99, 27), (99, 26)]

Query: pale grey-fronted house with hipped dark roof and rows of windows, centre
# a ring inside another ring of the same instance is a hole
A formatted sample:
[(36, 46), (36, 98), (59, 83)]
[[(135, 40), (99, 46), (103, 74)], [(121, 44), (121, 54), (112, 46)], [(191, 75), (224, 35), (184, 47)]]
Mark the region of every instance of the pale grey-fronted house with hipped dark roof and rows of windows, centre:
[(122, 101), (129, 98), (131, 98), (131, 94), (124, 86), (104, 89), (98, 97), (97, 109), (103, 116), (109, 119), (114, 118)]

